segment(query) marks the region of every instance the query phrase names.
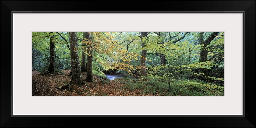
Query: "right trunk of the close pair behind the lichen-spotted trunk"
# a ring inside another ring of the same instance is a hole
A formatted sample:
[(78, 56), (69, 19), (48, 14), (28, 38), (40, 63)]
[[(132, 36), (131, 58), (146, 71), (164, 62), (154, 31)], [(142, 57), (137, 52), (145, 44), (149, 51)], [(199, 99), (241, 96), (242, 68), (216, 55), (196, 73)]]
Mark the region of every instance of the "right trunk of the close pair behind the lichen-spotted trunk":
[(92, 46), (91, 46), (91, 33), (86, 32), (86, 39), (89, 42), (88, 51), (87, 51), (87, 62), (86, 62), (86, 81), (92, 82)]

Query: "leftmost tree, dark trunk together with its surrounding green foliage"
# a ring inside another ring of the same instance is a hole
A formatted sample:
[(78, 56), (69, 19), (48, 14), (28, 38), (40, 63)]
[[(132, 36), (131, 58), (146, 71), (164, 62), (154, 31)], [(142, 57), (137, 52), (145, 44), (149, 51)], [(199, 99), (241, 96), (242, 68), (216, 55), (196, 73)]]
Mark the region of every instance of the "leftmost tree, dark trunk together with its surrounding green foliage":
[(33, 63), (34, 69), (45, 74), (58, 72), (58, 68), (71, 68), (69, 42), (65, 38), (69, 38), (68, 32), (33, 32), (32, 50), (41, 53), (35, 54), (38, 59), (33, 60), (37, 62)]

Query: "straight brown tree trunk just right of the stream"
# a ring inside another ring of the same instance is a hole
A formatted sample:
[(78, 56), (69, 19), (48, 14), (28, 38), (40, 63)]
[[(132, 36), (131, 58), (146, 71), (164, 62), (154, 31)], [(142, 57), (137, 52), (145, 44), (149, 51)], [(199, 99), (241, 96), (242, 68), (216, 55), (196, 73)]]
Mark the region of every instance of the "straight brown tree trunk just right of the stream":
[[(147, 37), (147, 33), (148, 32), (141, 32), (141, 38), (143, 38), (143, 37)], [(142, 68), (141, 68), (141, 76), (147, 76), (147, 73), (146, 73), (146, 56), (147, 56), (147, 50), (145, 50), (145, 49), (143, 49), (144, 47), (145, 47), (145, 43), (144, 43), (144, 41), (142, 40), (141, 41), (142, 43), (141, 43), (141, 46), (142, 46), (142, 52), (141, 52), (141, 56), (142, 56), (142, 58), (141, 58), (141, 66), (142, 66)], [(143, 57), (145, 57), (145, 58), (143, 58)]]

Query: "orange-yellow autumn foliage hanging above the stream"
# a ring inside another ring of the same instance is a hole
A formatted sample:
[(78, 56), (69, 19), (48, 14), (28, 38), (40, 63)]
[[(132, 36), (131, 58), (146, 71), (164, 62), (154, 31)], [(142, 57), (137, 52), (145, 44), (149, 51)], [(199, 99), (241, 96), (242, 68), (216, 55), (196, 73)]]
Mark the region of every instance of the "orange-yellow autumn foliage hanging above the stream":
[[(132, 74), (132, 71), (139, 67), (131, 65), (131, 61), (138, 60), (137, 57), (141, 56), (135, 52), (129, 52), (125, 48), (127, 45), (122, 47), (123, 41), (116, 40), (112, 34), (113, 32), (91, 32), (91, 37), (93, 38), (91, 43), (90, 41), (88, 42), (88, 46), (91, 45), (90, 49), (94, 53), (92, 54), (93, 74), (104, 75), (101, 70), (125, 70), (127, 73)], [(141, 40), (140, 37), (138, 38)]]

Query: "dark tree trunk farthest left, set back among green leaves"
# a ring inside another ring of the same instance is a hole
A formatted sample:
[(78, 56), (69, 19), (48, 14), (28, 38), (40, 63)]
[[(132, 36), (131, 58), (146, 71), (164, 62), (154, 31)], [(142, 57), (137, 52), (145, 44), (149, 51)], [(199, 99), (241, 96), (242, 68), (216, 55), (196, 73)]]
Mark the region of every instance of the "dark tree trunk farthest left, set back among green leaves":
[(49, 68), (48, 68), (47, 73), (53, 73), (54, 72), (54, 62), (55, 62), (55, 57), (54, 56), (55, 56), (55, 45), (54, 45), (54, 42), (53, 42), (52, 38), (50, 38), (50, 64), (49, 64)]

